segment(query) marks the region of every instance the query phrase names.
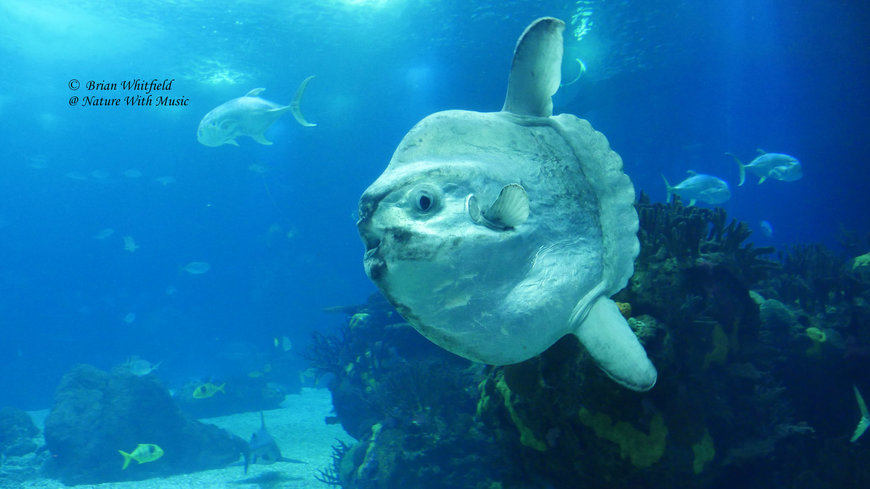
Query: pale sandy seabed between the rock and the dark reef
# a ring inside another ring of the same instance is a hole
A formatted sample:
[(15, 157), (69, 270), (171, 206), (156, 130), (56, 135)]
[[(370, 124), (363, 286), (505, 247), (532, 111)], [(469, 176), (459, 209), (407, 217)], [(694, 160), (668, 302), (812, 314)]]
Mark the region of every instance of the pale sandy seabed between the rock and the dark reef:
[[(16, 484), (22, 489), (60, 489), (66, 487), (99, 489), (170, 489), (170, 488), (268, 488), (325, 489), (329, 485), (315, 476), (332, 463), (332, 446), (338, 442), (352, 443), (353, 438), (340, 425), (327, 425), (324, 418), (332, 411), (332, 399), (326, 389), (304, 388), (299, 394), (288, 395), (279, 409), (263, 411), (266, 428), (281, 447), (284, 457), (306, 463), (277, 462), (272, 465), (251, 465), (247, 475), (241, 466), (206, 470), (159, 479), (135, 482), (107, 482), (66, 486), (54, 479), (32, 479)], [(47, 411), (34, 415), (42, 426)], [(39, 418), (42, 419), (39, 419)], [(242, 413), (200, 421), (219, 426), (245, 440), (260, 428), (260, 413)], [(0, 482), (0, 486), (2, 486)]]

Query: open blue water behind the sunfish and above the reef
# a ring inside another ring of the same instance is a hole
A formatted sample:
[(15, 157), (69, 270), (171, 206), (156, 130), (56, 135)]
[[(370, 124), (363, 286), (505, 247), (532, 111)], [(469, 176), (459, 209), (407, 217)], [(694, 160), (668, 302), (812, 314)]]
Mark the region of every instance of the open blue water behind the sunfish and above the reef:
[[(607, 135), (638, 190), (664, 201), (661, 174), (720, 176), (759, 245), (870, 229), (859, 2), (0, 0), (0, 405), (49, 406), (76, 363), (139, 355), (181, 384), (258, 368), (275, 337), (303, 350), (343, 319), (323, 308), (375, 291), (357, 200), (404, 133), (438, 110), (500, 109), (523, 28), (578, 8), (593, 24), (566, 30), (564, 78), (574, 57), (587, 71), (555, 112)], [(272, 146), (197, 143), (215, 106), (257, 87), (288, 103), (309, 75), (316, 127), (285, 116)], [(174, 80), (189, 105), (69, 105), (85, 95), (71, 79), (136, 78)], [(803, 179), (737, 187), (724, 153), (756, 148), (798, 157)]]

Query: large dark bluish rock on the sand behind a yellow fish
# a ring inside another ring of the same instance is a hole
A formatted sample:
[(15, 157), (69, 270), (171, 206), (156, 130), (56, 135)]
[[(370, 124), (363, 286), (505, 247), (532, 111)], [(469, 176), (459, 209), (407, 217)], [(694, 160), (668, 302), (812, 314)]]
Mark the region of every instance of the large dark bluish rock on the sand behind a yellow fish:
[[(151, 376), (79, 365), (61, 380), (45, 421), (48, 473), (65, 484), (142, 480), (223, 467), (247, 448), (241, 438), (185, 416)], [(122, 470), (118, 450), (153, 443), (165, 455)]]

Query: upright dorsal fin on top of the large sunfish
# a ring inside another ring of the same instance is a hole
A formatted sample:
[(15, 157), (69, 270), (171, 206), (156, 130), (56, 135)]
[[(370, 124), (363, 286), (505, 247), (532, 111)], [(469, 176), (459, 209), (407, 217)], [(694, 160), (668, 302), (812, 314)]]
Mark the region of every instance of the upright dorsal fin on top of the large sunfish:
[(553, 115), (552, 96), (562, 80), (562, 31), (565, 23), (543, 17), (529, 25), (514, 49), (502, 110), (517, 115)]

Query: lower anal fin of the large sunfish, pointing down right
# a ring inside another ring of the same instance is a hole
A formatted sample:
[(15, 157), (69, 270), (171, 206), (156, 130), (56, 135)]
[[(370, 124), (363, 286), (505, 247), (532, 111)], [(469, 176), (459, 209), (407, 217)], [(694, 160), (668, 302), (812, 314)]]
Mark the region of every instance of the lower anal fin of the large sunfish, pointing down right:
[(574, 334), (611, 379), (634, 391), (648, 391), (658, 374), (616, 303), (601, 297)]

